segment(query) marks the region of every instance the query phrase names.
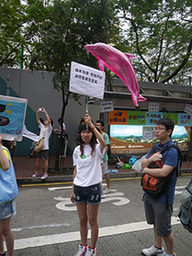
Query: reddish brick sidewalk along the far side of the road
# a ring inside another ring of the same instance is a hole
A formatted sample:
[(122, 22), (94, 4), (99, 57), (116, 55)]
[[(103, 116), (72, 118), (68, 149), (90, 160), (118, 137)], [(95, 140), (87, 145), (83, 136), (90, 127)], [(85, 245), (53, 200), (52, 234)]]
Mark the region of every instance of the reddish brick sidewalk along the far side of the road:
[[(54, 172), (54, 170), (49, 170), (49, 177), (46, 180), (41, 180), (41, 176), (44, 174), (44, 162), (41, 161), (40, 172), (38, 177), (32, 177), (32, 174), (35, 172), (36, 166), (36, 157), (28, 159), (24, 156), (15, 156), (13, 159), (15, 166), (15, 175), (18, 183), (52, 183), (52, 182), (72, 182), (73, 181), (73, 160), (72, 155), (67, 155), (64, 160), (64, 165), (62, 172)], [(110, 178), (123, 178), (123, 177), (141, 177), (142, 172), (137, 172), (133, 169), (122, 169), (115, 168), (115, 163), (118, 160), (109, 160), (108, 169), (117, 170), (118, 173), (109, 173)], [(125, 162), (125, 160), (124, 160)], [(126, 162), (125, 162), (126, 163)], [(182, 162), (182, 173), (191, 173), (192, 172), (192, 161), (183, 161)]]

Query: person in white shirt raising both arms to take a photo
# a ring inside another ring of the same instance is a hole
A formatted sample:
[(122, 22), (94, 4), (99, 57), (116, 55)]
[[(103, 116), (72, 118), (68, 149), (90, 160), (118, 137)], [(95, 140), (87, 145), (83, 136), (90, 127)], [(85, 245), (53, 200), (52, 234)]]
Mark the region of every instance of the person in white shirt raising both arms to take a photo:
[[(39, 119), (39, 111), (45, 113), (46, 120), (44, 121), (44, 125), (41, 123), (41, 121)], [(40, 138), (44, 137), (44, 148), (41, 151), (37, 152), (38, 159), (36, 161), (36, 171), (34, 172), (32, 177), (37, 177), (38, 176), (38, 170), (40, 168), (41, 159), (43, 159), (44, 160), (44, 175), (41, 177), (41, 179), (45, 179), (45, 178), (48, 177), (49, 137), (50, 137), (51, 132), (52, 132), (53, 121), (49, 118), (49, 114), (46, 112), (46, 110), (44, 108), (38, 108), (38, 110), (37, 110), (37, 122), (38, 122), (38, 126), (40, 128), (39, 137)]]

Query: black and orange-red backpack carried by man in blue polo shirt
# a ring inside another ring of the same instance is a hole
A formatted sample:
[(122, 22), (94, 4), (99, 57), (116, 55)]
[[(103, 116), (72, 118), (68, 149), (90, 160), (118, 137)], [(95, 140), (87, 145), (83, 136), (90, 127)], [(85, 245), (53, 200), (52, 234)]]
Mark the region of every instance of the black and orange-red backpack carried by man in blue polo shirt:
[[(156, 153), (156, 146), (157, 144), (154, 144), (152, 146), (152, 154)], [(166, 194), (166, 202), (168, 202), (167, 197), (167, 189), (168, 189), (168, 183), (170, 182), (173, 173), (176, 171), (178, 176), (178, 166), (181, 168), (181, 162), (182, 162), (182, 154), (180, 149), (177, 147), (176, 144), (172, 144), (170, 146), (167, 146), (166, 148), (163, 148), (160, 151), (160, 154), (164, 154), (164, 152), (169, 148), (176, 148), (177, 154), (178, 154), (178, 162), (177, 167), (172, 170), (166, 177), (154, 177), (152, 175), (149, 175), (148, 173), (143, 173), (141, 185), (143, 186), (143, 191), (146, 192), (150, 197), (157, 199), (160, 197), (160, 195)], [(163, 161), (157, 161), (151, 163), (148, 168), (162, 168), (164, 165)]]

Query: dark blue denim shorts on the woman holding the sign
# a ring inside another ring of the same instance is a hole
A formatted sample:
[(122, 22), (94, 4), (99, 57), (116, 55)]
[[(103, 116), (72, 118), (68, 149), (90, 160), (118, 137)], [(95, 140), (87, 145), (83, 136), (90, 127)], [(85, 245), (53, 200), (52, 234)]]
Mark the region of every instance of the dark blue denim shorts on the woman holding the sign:
[(87, 202), (91, 206), (100, 204), (101, 189), (99, 183), (89, 187), (79, 187), (74, 185), (74, 201), (76, 204)]

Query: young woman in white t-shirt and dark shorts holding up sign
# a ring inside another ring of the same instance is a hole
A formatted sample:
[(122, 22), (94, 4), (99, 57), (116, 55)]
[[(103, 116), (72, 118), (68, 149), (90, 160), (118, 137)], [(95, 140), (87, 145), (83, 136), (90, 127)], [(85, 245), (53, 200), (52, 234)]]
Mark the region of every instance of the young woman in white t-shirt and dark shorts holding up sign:
[[(97, 215), (101, 202), (99, 183), (102, 182), (101, 160), (105, 153), (105, 140), (93, 125), (88, 113), (84, 120), (85, 123), (80, 129), (80, 145), (73, 152), (73, 190), (70, 197), (71, 201), (76, 203), (80, 223), (81, 244), (75, 256), (97, 254)], [(96, 142), (96, 138), (99, 143)], [(87, 244), (88, 220), (91, 229), (90, 247)]]

